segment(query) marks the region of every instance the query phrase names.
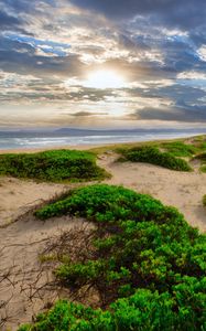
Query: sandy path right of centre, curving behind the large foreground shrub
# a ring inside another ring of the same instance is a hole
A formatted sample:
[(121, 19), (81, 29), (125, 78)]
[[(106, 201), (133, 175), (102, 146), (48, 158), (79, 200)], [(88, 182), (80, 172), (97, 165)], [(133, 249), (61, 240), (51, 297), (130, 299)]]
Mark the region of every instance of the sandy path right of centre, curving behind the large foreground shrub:
[(99, 166), (112, 174), (107, 183), (120, 184), (140, 193), (151, 194), (164, 204), (177, 207), (186, 221), (206, 232), (206, 173), (178, 172), (147, 163), (115, 162), (118, 156), (104, 154)]

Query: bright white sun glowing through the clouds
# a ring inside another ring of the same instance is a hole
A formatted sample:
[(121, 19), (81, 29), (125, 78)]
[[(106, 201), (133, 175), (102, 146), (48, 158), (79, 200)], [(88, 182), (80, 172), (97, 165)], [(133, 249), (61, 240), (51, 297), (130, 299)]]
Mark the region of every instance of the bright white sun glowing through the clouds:
[(84, 85), (98, 89), (121, 88), (126, 85), (126, 81), (117, 72), (106, 70), (89, 74)]

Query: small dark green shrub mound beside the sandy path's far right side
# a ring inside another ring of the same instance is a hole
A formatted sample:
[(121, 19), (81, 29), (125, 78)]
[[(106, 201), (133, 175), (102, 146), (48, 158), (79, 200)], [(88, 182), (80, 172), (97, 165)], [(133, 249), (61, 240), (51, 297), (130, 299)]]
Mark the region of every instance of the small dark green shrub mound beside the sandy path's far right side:
[(121, 161), (147, 162), (177, 171), (192, 171), (189, 164), (169, 152), (162, 152), (155, 146), (142, 146), (131, 149), (121, 149)]

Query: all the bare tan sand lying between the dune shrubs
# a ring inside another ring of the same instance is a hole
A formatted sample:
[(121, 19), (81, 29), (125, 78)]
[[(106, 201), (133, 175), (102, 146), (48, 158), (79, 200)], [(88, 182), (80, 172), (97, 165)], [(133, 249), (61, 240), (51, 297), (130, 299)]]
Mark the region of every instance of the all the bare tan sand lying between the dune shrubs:
[[(206, 173), (199, 173), (197, 168), (189, 173), (144, 163), (118, 163), (117, 157), (113, 152), (99, 157), (98, 164), (112, 174), (105, 182), (151, 194), (164, 204), (176, 206), (200, 232), (206, 231), (206, 210), (202, 204), (206, 194)], [(41, 222), (30, 212), (18, 221), (17, 216), (69, 188), (0, 178), (0, 330), (8, 327), (17, 330), (19, 323), (30, 321), (36, 311), (54, 299), (50, 293), (31, 301), (32, 284), (40, 270), (39, 253), (48, 238), (82, 226), (83, 220), (62, 217)], [(39, 285), (44, 284), (46, 277), (52, 275), (43, 273)]]

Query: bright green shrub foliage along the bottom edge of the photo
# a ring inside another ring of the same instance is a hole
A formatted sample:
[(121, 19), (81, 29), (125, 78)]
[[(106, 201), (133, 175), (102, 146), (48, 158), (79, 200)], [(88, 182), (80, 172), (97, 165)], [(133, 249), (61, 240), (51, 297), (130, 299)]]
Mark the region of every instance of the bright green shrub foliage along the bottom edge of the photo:
[(39, 314), (33, 325), (22, 325), (19, 331), (205, 330), (206, 297), (200, 286), (205, 289), (205, 281), (185, 279), (172, 293), (139, 289), (107, 311), (57, 301), (48, 312)]

